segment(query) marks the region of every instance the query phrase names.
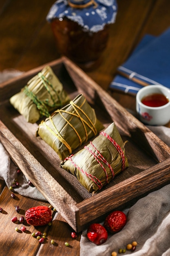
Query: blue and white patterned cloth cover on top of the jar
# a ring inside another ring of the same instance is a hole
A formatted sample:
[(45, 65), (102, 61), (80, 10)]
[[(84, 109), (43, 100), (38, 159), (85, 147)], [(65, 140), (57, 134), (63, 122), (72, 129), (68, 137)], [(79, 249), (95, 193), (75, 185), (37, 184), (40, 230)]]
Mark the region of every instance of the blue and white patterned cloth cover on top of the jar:
[(64, 17), (77, 22), (86, 31), (97, 32), (106, 24), (115, 22), (116, 0), (57, 0), (49, 10), (46, 20), (52, 22)]

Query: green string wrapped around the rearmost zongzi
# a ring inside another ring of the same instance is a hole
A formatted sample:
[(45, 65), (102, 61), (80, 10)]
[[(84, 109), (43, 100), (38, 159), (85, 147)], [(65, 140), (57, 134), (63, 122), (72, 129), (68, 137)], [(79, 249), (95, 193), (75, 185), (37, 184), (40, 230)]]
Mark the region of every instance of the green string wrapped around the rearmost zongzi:
[[(45, 101), (41, 101), (40, 99), (38, 99), (38, 97), (31, 90), (29, 90), (27, 85), (24, 87), (23, 92), (26, 94), (26, 96), (28, 96), (33, 101), (33, 103), (35, 103), (35, 105), (37, 106), (37, 109), (39, 110), (41, 116), (49, 117), (50, 114), (49, 114), (49, 110), (48, 110), (47, 106), (49, 106), (50, 108), (55, 108), (55, 107), (60, 108), (62, 106), (62, 101), (61, 101), (57, 91), (55, 90), (55, 88), (53, 88), (53, 85), (46, 79), (46, 77), (43, 76), (43, 74), (41, 72), (38, 73), (38, 76), (42, 80), (42, 83), (43, 83), (44, 87), (46, 88), (47, 92), (49, 93), (49, 95), (51, 97), (51, 100), (53, 101), (53, 104), (52, 105), (49, 104), (49, 99), (46, 99)], [(54, 99), (53, 95), (51, 94), (48, 85), (55, 92), (59, 103), (55, 102), (55, 99)]]

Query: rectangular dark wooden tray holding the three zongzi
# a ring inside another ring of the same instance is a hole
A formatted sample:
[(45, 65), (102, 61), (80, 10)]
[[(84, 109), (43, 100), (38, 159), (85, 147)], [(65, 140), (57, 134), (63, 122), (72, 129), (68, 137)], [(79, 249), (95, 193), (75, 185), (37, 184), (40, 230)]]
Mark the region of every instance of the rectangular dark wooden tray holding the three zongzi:
[(115, 122), (126, 144), (129, 167), (92, 196), (77, 179), (59, 167), (61, 160), (40, 137), (38, 124), (27, 123), (9, 98), (42, 70), (38, 67), (0, 85), (0, 141), (18, 168), (75, 231), (130, 200), (170, 181), (170, 148), (102, 90), (69, 59), (50, 65), (71, 99), (83, 93), (107, 127)]

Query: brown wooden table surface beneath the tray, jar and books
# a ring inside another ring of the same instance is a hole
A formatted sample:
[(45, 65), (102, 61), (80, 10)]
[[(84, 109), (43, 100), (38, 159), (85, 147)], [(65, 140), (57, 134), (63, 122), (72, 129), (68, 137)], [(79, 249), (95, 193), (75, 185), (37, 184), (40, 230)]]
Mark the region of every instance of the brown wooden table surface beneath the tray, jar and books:
[[(44, 63), (60, 58), (51, 27), (46, 15), (54, 0), (0, 1), (0, 71), (15, 69), (28, 71)], [(115, 24), (110, 25), (110, 38), (103, 54), (102, 64), (93, 71), (86, 72), (102, 88), (108, 90), (116, 74), (116, 68), (122, 64), (145, 34), (158, 36), (170, 26), (169, 0), (117, 0), (118, 13)], [(135, 110), (135, 97), (118, 92), (112, 96), (125, 108)], [(79, 240), (71, 238), (71, 227), (60, 216), (54, 214), (51, 227), (42, 227), (47, 233), (46, 243), (40, 244), (31, 237), (36, 229), (28, 227), (28, 232), (18, 233), (11, 225), (16, 215), (15, 206), (24, 211), (45, 202), (17, 195), (11, 198), (11, 191), (0, 181), (0, 254), (7, 255), (79, 255)], [(19, 215), (18, 215), (19, 216)], [(51, 245), (51, 239), (55, 245)], [(70, 247), (65, 246), (65, 242)], [(88, 255), (88, 254), (87, 254)]]

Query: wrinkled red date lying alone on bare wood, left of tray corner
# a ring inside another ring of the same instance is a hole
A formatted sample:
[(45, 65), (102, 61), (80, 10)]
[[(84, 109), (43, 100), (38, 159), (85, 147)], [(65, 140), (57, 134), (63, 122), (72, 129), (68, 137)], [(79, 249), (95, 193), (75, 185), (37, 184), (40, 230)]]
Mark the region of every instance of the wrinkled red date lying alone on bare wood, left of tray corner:
[(25, 212), (26, 222), (33, 226), (43, 226), (52, 221), (51, 209), (47, 206), (37, 206)]

